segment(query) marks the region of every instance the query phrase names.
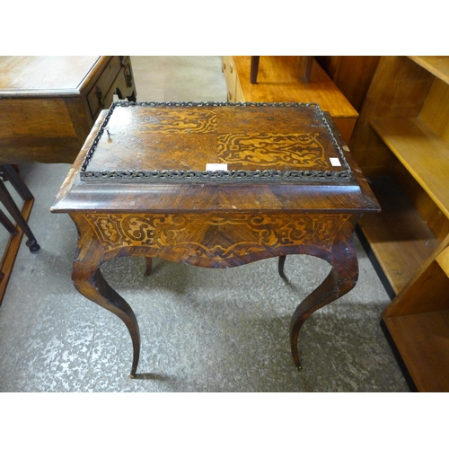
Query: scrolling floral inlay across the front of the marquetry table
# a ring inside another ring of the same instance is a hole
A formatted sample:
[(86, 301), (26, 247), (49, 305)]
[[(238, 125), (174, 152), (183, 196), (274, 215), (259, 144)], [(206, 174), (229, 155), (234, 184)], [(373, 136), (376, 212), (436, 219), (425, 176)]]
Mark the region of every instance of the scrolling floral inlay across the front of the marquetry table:
[(316, 242), (330, 248), (349, 215), (88, 214), (86, 218), (103, 251), (145, 246), (175, 253), (181, 260), (226, 260)]

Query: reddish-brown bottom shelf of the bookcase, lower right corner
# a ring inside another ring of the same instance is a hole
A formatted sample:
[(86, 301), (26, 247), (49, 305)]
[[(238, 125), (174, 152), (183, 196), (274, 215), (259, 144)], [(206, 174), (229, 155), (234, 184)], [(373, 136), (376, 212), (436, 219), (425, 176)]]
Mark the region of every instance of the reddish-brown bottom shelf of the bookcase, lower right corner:
[(383, 319), (419, 392), (449, 392), (449, 310)]

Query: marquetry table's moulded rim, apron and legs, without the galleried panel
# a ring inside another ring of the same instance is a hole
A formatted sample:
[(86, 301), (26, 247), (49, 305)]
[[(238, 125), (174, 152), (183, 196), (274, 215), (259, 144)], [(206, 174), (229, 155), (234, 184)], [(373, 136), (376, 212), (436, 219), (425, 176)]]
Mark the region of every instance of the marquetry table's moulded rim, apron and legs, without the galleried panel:
[(354, 173), (354, 180), (346, 184), (86, 183), (79, 173), (106, 115), (104, 111), (97, 120), (51, 211), (69, 214), (78, 231), (75, 287), (128, 328), (134, 352), (130, 376), (136, 375), (140, 354), (136, 316), (100, 269), (123, 256), (213, 269), (278, 257), (281, 276), (288, 255), (326, 260), (331, 267), (328, 277), (298, 305), (291, 319), (290, 344), (299, 368), (301, 326), (313, 312), (356, 285), (353, 231), (360, 216), (379, 210), (348, 147), (339, 140)]

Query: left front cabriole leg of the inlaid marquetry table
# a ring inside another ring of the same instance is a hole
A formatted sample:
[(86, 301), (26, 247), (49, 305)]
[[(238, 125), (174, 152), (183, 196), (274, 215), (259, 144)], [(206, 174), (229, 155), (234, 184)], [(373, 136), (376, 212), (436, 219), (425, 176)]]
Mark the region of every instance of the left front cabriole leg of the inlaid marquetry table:
[(99, 246), (97, 241), (90, 240), (88, 236), (80, 236), (72, 279), (81, 295), (117, 315), (127, 326), (133, 344), (133, 363), (129, 375), (134, 378), (140, 355), (140, 331), (136, 315), (129, 304), (101, 275), (101, 249)]

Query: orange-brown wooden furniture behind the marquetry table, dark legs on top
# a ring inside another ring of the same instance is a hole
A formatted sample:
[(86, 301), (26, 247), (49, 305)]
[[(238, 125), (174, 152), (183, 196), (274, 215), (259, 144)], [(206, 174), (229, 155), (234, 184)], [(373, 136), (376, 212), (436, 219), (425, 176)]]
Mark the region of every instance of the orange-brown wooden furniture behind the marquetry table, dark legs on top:
[(251, 84), (251, 57), (224, 56), (223, 72), (227, 100), (231, 102), (304, 102), (318, 103), (330, 113), (345, 142), (349, 142), (358, 117), (339, 88), (321, 66), (313, 61), (310, 82), (304, 84), (301, 74), (306, 58), (260, 57), (257, 84)]

